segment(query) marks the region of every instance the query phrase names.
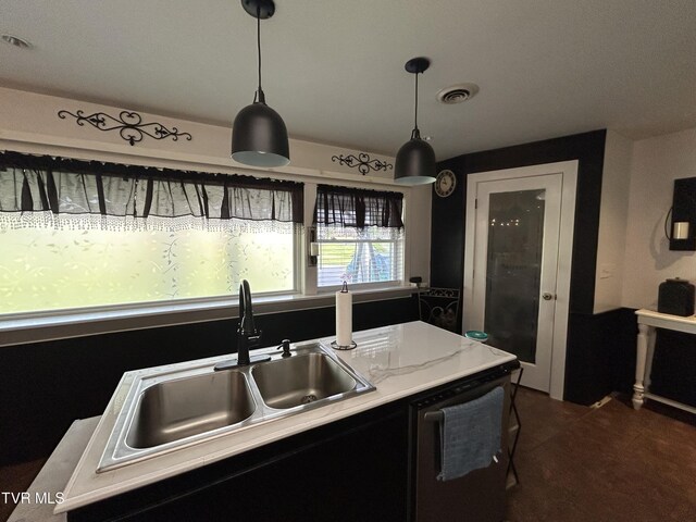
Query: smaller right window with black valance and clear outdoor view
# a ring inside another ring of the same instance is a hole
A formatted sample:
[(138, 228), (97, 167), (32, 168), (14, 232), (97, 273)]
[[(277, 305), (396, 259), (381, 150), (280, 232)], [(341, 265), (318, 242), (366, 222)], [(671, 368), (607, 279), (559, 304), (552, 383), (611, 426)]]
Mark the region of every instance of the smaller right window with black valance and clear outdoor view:
[(319, 185), (318, 287), (403, 279), (403, 195)]

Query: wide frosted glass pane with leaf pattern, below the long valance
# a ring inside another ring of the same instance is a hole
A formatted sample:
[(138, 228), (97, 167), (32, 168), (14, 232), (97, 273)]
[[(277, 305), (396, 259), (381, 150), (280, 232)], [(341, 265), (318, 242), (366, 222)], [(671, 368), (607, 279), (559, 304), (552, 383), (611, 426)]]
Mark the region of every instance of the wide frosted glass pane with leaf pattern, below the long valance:
[(0, 313), (295, 289), (291, 223), (273, 232), (0, 229)]

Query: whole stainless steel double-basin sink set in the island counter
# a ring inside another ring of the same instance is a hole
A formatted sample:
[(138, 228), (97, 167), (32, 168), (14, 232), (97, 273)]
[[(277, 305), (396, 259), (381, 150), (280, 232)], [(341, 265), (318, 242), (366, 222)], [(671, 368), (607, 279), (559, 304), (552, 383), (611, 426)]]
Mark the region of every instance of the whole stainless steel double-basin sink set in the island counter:
[(120, 387), (125, 397), (112, 400), (123, 406), (97, 471), (375, 389), (318, 343), (297, 345), (291, 353), (219, 372), (220, 358), (126, 373)]

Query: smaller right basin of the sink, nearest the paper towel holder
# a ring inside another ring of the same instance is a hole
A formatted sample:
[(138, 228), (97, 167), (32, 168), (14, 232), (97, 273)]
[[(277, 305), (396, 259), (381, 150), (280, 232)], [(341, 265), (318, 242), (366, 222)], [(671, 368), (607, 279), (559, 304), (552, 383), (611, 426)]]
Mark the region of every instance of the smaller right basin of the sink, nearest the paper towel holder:
[(294, 408), (350, 391), (356, 380), (324, 353), (306, 353), (251, 370), (263, 402)]

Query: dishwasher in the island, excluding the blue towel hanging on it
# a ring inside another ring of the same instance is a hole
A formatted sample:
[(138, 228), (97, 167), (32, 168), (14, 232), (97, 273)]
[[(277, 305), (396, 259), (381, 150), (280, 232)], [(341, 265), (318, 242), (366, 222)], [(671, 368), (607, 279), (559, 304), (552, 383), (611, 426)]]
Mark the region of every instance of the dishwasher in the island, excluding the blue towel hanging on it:
[[(505, 519), (508, 468), (508, 417), (510, 374), (520, 368), (514, 360), (453, 381), (415, 397), (409, 410), (409, 520), (413, 522), (500, 522)], [(442, 465), (442, 408), (483, 397), (504, 388), (500, 446), (497, 462), (459, 478), (437, 480)]]

